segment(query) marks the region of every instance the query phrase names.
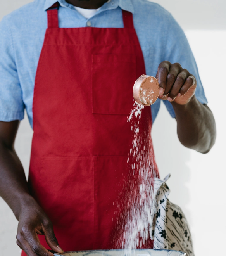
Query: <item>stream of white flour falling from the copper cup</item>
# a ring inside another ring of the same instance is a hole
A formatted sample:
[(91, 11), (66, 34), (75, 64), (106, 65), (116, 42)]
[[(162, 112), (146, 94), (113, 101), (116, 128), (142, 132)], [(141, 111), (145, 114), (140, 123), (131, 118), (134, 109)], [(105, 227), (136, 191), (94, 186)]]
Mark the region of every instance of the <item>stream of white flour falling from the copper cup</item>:
[[(128, 184), (129, 209), (124, 220), (122, 249), (126, 255), (131, 250), (147, 248), (148, 241), (153, 240), (152, 223), (154, 217), (154, 176), (155, 160), (150, 129), (143, 118), (145, 106), (134, 103), (128, 116), (133, 132), (133, 147), (130, 149), (128, 164), (131, 168), (131, 183)], [(135, 177), (135, 178), (133, 178)], [(134, 182), (136, 181), (136, 184)]]

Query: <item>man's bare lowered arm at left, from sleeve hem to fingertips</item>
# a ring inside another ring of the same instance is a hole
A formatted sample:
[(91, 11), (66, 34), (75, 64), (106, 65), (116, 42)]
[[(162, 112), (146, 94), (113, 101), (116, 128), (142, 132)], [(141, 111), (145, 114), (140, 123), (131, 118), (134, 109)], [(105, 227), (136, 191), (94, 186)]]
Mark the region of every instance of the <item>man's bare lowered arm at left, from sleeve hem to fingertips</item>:
[(31, 255), (53, 256), (40, 244), (37, 234), (45, 235), (48, 246), (63, 253), (47, 214), (29, 194), (24, 170), (15, 150), (19, 121), (0, 121), (0, 196), (14, 212), (18, 223), (17, 245)]

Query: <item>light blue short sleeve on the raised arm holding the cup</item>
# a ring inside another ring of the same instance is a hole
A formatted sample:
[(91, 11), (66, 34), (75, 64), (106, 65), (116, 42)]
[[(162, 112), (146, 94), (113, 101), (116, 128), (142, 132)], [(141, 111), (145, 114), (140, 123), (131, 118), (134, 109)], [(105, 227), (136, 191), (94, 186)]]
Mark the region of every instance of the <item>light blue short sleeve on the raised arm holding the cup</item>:
[[(195, 58), (191, 51), (188, 40), (185, 36), (185, 33), (171, 14), (169, 14), (168, 16), (168, 22), (166, 27), (166, 47), (164, 50), (165, 56), (163, 59), (171, 63), (180, 63), (183, 68), (187, 69), (191, 74), (195, 76), (197, 80), (197, 89), (195, 91), (195, 96), (202, 104), (207, 104), (207, 99), (205, 97), (202, 82), (198, 74), (198, 67), (195, 62)], [(169, 111), (171, 116), (175, 118), (174, 109), (171, 103), (167, 100), (163, 100), (163, 102), (166, 105), (167, 110)]]

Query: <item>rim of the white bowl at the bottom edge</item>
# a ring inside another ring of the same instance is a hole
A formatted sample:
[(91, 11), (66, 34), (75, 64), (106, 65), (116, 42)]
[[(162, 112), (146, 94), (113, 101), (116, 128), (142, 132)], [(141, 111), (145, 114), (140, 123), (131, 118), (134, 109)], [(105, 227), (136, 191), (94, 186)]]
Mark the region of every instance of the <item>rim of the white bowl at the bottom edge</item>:
[(173, 250), (135, 249), (128, 253), (126, 250), (90, 250), (71, 251), (63, 254), (55, 253), (54, 256), (185, 256), (186, 253)]

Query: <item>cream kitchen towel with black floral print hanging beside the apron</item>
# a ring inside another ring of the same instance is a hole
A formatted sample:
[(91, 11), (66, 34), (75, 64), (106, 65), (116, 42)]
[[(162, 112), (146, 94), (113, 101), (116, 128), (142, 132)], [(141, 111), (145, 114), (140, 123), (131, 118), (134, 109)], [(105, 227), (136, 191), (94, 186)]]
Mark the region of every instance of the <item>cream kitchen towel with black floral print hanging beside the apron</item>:
[(169, 201), (170, 193), (166, 181), (155, 178), (154, 193), (156, 210), (152, 226), (154, 249), (183, 251), (187, 256), (194, 256), (188, 222), (181, 208)]

